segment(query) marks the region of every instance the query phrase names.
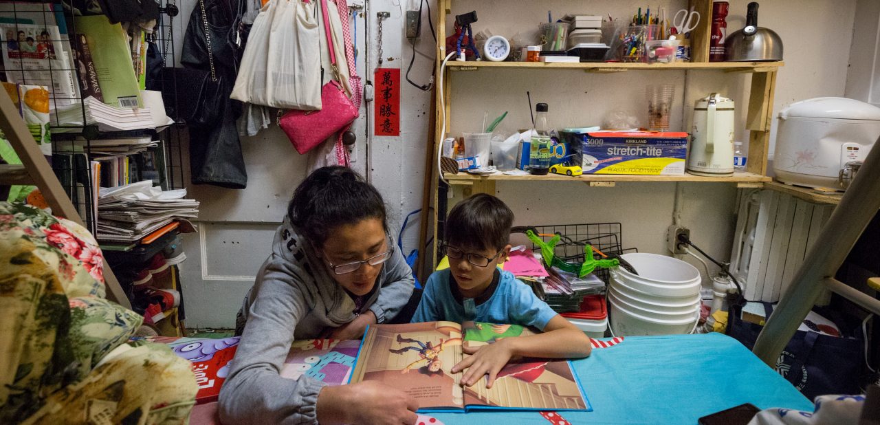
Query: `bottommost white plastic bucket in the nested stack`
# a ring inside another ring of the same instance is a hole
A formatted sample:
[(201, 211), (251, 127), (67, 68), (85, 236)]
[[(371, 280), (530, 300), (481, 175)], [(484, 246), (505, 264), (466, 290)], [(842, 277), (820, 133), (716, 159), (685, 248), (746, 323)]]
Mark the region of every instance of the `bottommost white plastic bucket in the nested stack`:
[(639, 314), (618, 303), (614, 297), (608, 297), (611, 304), (611, 329), (614, 336), (634, 335), (671, 335), (691, 333), (700, 319), (700, 307), (693, 309), (686, 319), (658, 319)]

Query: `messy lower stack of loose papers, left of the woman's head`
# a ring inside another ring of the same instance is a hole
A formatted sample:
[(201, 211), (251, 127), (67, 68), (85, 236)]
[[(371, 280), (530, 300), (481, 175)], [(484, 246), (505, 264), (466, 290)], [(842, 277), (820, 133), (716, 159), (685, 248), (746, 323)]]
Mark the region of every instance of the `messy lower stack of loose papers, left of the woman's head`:
[(174, 220), (199, 216), (199, 202), (184, 199), (186, 189), (163, 191), (145, 180), (120, 187), (101, 187), (98, 235), (101, 241), (136, 242)]

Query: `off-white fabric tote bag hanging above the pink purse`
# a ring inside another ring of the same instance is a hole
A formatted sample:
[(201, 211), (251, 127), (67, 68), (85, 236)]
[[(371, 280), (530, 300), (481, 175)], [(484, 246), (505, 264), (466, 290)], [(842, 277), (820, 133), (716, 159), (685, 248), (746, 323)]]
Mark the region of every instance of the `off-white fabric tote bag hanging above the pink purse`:
[(282, 109), (321, 108), (314, 4), (271, 0), (253, 21), (231, 98)]

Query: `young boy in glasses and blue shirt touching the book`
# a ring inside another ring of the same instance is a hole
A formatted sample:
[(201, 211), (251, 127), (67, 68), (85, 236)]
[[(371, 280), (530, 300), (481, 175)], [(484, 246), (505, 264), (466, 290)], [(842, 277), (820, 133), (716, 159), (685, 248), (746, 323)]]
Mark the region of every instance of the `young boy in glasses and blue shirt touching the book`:
[(495, 196), (475, 194), (446, 218), (449, 268), (431, 275), (413, 322), (466, 320), (534, 326), (543, 333), (503, 338), (480, 348), (464, 347), (467, 357), (452, 367), (465, 370), (462, 385), (488, 374), (491, 388), (512, 357), (573, 358), (590, 355), (590, 338), (556, 314), (510, 274), (498, 269), (510, 253), (513, 212)]

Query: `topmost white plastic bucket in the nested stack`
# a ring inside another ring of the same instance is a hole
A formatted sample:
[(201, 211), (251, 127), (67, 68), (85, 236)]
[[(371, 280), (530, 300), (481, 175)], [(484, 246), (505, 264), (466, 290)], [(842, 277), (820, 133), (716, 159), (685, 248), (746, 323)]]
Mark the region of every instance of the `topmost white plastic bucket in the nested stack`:
[(700, 272), (685, 261), (654, 253), (625, 253), (621, 258), (639, 274), (623, 267), (612, 268), (612, 285), (621, 282), (657, 297), (693, 297), (700, 293)]

